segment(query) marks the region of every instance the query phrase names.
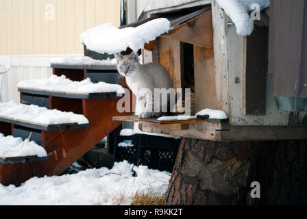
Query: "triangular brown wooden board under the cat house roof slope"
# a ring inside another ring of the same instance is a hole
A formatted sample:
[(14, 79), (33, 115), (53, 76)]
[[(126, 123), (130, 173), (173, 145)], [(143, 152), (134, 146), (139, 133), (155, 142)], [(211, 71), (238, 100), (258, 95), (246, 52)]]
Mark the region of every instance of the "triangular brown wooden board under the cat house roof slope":
[(201, 14), (182, 25), (179, 25), (163, 34), (161, 37), (174, 38), (182, 42), (213, 48), (213, 30), (211, 10)]

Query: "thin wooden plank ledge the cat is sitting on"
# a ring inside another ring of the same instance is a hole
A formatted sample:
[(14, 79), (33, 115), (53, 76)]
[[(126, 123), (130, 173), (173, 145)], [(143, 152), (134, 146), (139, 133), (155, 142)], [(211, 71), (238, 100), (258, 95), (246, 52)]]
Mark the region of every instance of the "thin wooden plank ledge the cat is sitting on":
[(201, 123), (203, 121), (202, 118), (191, 118), (187, 120), (157, 120), (157, 118), (138, 118), (138, 116), (113, 116), (113, 120), (134, 123), (149, 123), (153, 125), (190, 124)]

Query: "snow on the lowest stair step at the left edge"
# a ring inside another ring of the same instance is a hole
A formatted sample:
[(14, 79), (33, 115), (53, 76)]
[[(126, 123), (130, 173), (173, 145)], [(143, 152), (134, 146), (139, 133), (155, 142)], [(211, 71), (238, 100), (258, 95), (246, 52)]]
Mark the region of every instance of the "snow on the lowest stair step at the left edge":
[(3, 136), (0, 133), (0, 157), (27, 157), (38, 156), (47, 157), (47, 152), (42, 146), (28, 139), (14, 138), (13, 136)]

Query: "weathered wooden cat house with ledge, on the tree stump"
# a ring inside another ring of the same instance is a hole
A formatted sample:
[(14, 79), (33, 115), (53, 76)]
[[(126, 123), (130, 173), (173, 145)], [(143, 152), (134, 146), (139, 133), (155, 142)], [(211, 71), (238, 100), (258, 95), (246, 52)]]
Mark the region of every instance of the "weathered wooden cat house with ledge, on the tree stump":
[[(280, 92), (285, 83), (295, 84), (295, 80), (282, 82), (280, 74), (284, 73), (275, 64), (284, 59), (286, 53), (280, 57), (278, 51), (288, 40), (273, 40), (278, 30), (284, 28), (275, 22), (280, 8), (271, 6), (271, 12), (262, 12), (252, 34), (238, 36), (223, 9), (215, 1), (208, 2), (185, 10), (150, 14), (124, 27), (136, 27), (153, 18), (168, 18), (173, 29), (145, 44), (141, 51), (143, 62), (160, 62), (169, 70), (174, 88), (191, 88), (194, 112), (206, 108), (222, 110), (228, 119), (160, 121), (115, 116), (113, 120), (140, 123), (140, 130), (149, 133), (214, 141), (307, 138), (306, 92), (303, 96)], [(124, 53), (130, 53), (129, 49)], [(301, 108), (299, 101), (303, 101)]]

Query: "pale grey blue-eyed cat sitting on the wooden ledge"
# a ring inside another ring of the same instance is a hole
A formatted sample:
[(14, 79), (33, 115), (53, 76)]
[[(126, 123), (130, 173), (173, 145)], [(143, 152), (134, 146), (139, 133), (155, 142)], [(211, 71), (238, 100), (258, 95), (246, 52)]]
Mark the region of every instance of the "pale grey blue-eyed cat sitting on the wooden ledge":
[[(175, 96), (174, 91), (164, 96), (164, 101), (162, 101), (161, 94), (159, 94), (160, 101), (155, 101), (154, 97), (155, 88), (166, 90), (173, 88), (173, 81), (162, 64), (153, 62), (140, 64), (138, 54), (134, 52), (130, 55), (114, 54), (114, 56), (117, 61), (117, 70), (125, 77), (127, 86), (137, 97), (140, 109), (139, 118), (156, 118), (173, 112), (175, 101), (170, 101), (170, 98), (172, 95)], [(163, 109), (167, 109), (167, 112), (164, 112)]]

